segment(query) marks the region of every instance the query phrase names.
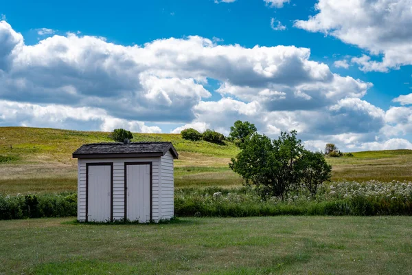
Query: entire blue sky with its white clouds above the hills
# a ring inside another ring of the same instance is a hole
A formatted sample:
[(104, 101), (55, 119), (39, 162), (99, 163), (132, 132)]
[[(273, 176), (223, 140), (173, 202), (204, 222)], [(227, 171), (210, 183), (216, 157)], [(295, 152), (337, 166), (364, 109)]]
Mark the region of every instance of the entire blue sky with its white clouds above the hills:
[(2, 3), (0, 126), (412, 148), (412, 0), (228, 2)]

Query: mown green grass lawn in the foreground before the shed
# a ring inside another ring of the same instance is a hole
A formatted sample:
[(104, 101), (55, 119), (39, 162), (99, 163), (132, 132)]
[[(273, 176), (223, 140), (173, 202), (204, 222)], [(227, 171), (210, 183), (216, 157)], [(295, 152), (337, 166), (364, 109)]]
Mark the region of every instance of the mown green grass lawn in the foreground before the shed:
[(412, 217), (0, 221), (0, 274), (408, 274)]

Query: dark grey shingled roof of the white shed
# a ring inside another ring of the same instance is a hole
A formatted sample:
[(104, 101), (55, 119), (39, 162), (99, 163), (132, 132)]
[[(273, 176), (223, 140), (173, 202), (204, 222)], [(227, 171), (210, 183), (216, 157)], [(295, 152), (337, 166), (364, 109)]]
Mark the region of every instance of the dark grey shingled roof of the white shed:
[(172, 153), (175, 159), (179, 157), (172, 142), (91, 143), (80, 146), (73, 153), (73, 158), (161, 157), (168, 151)]

